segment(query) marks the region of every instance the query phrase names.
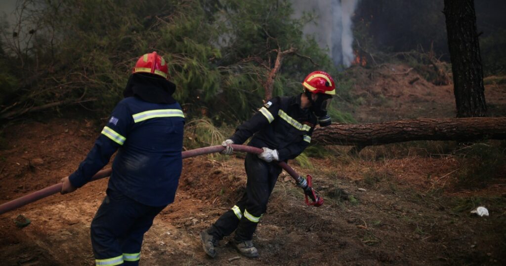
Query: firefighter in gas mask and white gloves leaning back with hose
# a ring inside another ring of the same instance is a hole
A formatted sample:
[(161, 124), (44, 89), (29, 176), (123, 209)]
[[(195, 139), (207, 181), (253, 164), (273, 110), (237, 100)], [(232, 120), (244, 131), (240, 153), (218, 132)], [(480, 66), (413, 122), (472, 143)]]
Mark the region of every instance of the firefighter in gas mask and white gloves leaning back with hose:
[[(247, 154), (244, 160), (247, 182), (242, 198), (207, 230), (200, 233), (204, 251), (215, 257), (215, 247), (223, 237), (235, 231), (230, 241), (246, 257), (257, 257), (252, 243), (260, 218), (267, 209), (269, 196), (276, 184), (281, 167), (276, 161), (294, 159), (311, 142), (317, 123), (330, 125), (327, 107), (335, 94), (335, 83), (323, 71), (310, 73), (302, 82), (303, 93), (293, 97), (269, 100), (249, 120), (237, 127), (234, 135), (225, 140), (224, 154), (232, 154), (232, 144), (242, 144), (253, 136), (249, 146), (262, 148), (260, 155)], [(305, 180), (304, 180), (305, 182)], [(305, 187), (305, 184), (298, 184)]]

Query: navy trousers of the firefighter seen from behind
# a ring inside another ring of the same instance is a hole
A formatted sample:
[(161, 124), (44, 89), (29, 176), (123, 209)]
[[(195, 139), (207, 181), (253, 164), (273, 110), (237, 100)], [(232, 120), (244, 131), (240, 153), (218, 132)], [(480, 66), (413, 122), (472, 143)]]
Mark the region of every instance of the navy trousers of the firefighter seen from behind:
[(97, 265), (138, 265), (144, 233), (164, 207), (144, 205), (107, 190), (91, 224)]

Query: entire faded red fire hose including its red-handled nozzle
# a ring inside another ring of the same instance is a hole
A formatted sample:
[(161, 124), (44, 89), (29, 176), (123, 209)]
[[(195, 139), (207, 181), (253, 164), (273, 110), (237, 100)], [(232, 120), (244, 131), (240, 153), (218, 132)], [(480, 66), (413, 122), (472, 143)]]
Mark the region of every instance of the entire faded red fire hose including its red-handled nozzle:
[[(262, 149), (259, 149), (256, 147), (251, 147), (251, 146), (245, 146), (245, 145), (233, 144), (232, 148), (234, 149), (234, 151), (247, 152), (247, 153), (253, 153), (253, 154), (260, 154), (263, 152)], [(225, 147), (223, 147), (221, 145), (210, 146), (210, 147), (199, 148), (199, 149), (194, 149), (194, 150), (190, 150), (190, 151), (184, 151), (184, 152), (182, 152), (182, 156), (183, 156), (183, 159), (185, 159), (185, 158), (195, 157), (198, 155), (221, 152), (224, 149), (225, 149)], [(318, 196), (316, 191), (311, 187), (312, 186), (311, 175), (308, 174), (307, 179), (304, 179), (304, 178), (302, 178), (302, 176), (300, 176), (295, 170), (293, 170), (293, 168), (291, 168), (285, 162), (278, 162), (278, 164), (288, 174), (290, 174), (290, 176), (296, 181), (297, 185), (304, 190), (304, 194), (306, 197), (306, 204), (308, 206), (312, 205), (315, 207), (319, 207), (323, 204), (323, 198)], [(100, 170), (93, 176), (91, 181), (105, 178), (107, 176), (110, 176), (111, 173), (112, 173), (112, 168)], [(37, 201), (39, 199), (48, 197), (50, 195), (56, 194), (61, 191), (62, 184), (63, 183), (58, 183), (53, 186), (47, 187), (45, 189), (41, 189), (41, 190), (35, 191), (31, 194), (17, 198), (15, 200), (11, 200), (9, 202), (6, 202), (6, 203), (0, 205), (0, 214), (8, 212), (8, 211), (16, 209), (16, 208), (19, 208), (21, 206), (24, 206), (28, 203), (32, 203), (32, 202)], [(309, 202), (308, 198), (310, 198), (312, 200), (312, 202)]]

